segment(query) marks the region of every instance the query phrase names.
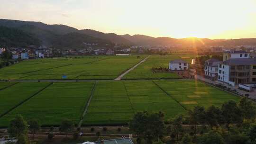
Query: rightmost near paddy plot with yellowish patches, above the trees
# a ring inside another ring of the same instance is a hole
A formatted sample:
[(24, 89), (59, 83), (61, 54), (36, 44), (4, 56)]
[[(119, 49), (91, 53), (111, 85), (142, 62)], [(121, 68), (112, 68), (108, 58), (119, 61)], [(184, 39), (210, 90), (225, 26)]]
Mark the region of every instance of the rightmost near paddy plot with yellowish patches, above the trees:
[(166, 80), (155, 81), (171, 97), (176, 99), (183, 107), (191, 110), (200, 105), (205, 108), (211, 105), (221, 106), (229, 100), (239, 101), (239, 97), (226, 91), (211, 87), (205, 83), (194, 80)]

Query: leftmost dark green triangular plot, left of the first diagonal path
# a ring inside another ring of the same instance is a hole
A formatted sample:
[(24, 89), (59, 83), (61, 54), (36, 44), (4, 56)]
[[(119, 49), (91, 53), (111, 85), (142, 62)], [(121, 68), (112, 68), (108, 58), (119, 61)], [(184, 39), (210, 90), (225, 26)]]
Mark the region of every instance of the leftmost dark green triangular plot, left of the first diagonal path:
[(47, 84), (49, 83), (18, 83), (7, 89), (0, 90), (0, 115), (17, 106), (19, 103), (35, 94), (37, 91), (43, 89)]

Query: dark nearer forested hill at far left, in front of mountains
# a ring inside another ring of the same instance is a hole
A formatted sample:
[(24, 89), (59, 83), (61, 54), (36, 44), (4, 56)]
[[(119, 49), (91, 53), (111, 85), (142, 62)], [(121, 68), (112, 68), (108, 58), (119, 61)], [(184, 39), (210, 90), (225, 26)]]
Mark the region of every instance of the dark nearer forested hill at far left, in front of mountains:
[(40, 45), (40, 40), (17, 28), (0, 26), (0, 47)]

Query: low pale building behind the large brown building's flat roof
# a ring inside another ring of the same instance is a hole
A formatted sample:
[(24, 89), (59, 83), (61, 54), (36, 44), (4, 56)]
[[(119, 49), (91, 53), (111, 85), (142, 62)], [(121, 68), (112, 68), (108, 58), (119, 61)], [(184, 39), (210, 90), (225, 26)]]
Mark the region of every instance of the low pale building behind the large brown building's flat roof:
[(250, 53), (247, 53), (246, 51), (227, 51), (223, 53), (223, 61), (244, 58), (250, 58)]

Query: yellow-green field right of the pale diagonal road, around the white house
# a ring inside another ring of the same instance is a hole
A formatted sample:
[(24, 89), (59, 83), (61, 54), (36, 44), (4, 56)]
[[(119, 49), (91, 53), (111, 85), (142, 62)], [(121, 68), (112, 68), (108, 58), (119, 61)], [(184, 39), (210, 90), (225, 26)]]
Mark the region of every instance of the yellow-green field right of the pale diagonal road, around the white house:
[[(182, 58), (183, 57), (183, 58)], [(168, 68), (169, 62), (175, 59), (183, 59), (191, 63), (192, 58), (196, 55), (192, 54), (168, 54), (168, 55), (151, 55), (146, 62), (141, 63), (137, 68), (129, 72), (123, 79), (136, 80), (136, 79), (177, 79), (179, 76), (176, 73), (162, 72), (153, 73), (153, 67)]]

